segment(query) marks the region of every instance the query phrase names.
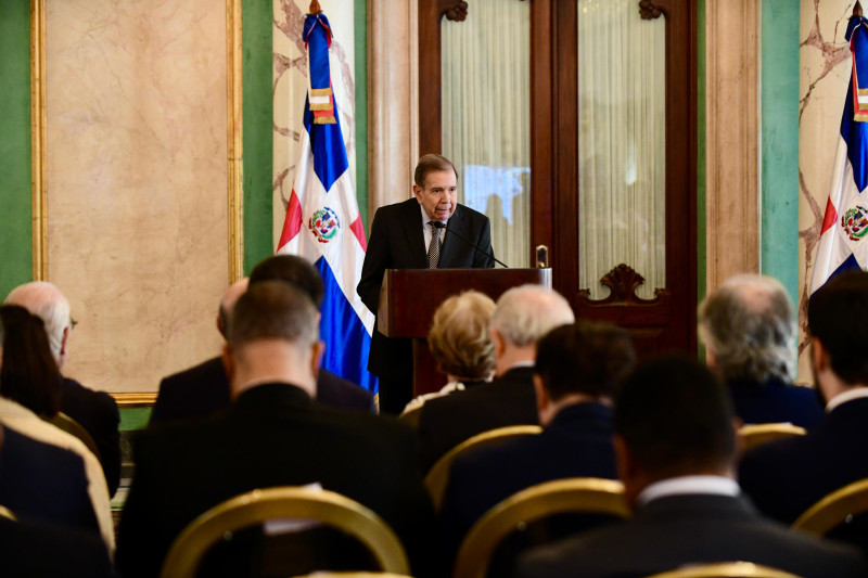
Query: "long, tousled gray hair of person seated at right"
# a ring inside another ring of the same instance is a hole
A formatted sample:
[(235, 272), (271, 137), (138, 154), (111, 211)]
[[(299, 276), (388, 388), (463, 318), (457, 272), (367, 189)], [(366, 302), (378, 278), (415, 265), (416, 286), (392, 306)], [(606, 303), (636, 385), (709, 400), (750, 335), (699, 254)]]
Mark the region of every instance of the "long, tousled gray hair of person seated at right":
[(795, 309), (770, 277), (725, 281), (699, 306), (699, 335), (726, 380), (795, 378)]

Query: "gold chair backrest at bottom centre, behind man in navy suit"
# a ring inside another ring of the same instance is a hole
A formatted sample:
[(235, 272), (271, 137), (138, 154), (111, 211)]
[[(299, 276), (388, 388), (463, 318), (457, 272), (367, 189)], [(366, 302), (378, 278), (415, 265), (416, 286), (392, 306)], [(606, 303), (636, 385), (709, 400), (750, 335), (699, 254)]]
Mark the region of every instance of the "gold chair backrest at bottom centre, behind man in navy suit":
[(452, 578), (484, 578), (497, 545), (522, 524), (556, 514), (628, 517), (624, 486), (614, 479), (567, 478), (537, 484), (507, 498), (468, 531)]

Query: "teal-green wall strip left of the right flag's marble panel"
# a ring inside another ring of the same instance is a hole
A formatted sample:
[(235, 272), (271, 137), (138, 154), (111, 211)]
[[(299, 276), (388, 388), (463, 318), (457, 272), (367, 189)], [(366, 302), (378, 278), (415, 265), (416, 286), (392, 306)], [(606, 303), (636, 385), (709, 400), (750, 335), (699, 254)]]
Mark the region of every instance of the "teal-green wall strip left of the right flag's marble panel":
[(762, 13), (762, 271), (799, 291), (799, 10)]

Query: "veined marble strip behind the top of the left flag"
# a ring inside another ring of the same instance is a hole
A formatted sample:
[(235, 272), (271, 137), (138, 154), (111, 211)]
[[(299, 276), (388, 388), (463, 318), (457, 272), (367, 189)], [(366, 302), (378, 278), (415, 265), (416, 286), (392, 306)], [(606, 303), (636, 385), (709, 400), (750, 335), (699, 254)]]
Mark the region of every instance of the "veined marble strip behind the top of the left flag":
[[(308, 87), (307, 51), (302, 39), (307, 0), (275, 0), (273, 20), (273, 246), (277, 247), (298, 162), (303, 113)], [(356, 89), (353, 0), (320, 0), (334, 38), (329, 51), (341, 130), (356, 182)], [(361, 57), (365, 57), (362, 54)], [(340, 75), (336, 74), (340, 72)], [(340, 78), (340, 81), (339, 81)]]

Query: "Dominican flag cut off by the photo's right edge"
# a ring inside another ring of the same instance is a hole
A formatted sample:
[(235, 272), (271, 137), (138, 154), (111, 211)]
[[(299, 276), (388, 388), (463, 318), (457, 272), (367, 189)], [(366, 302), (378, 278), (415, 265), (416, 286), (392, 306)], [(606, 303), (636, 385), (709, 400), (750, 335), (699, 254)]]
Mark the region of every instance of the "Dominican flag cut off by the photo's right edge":
[(832, 188), (822, 219), (810, 293), (848, 269), (868, 269), (868, 20), (853, 16), (845, 36), (853, 74), (841, 119)]

